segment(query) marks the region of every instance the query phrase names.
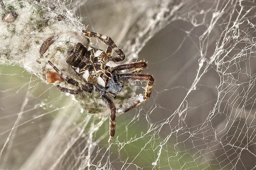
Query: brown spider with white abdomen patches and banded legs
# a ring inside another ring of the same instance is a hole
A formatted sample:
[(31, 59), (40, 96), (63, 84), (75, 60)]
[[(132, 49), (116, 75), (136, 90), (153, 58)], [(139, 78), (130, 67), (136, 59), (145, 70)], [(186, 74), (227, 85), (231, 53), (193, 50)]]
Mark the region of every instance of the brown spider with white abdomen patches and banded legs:
[[(119, 80), (147, 81), (143, 98), (143, 101), (145, 101), (151, 95), (154, 78), (149, 74), (136, 74), (147, 67), (146, 62), (139, 61), (121, 65), (116, 64), (116, 62), (125, 59), (125, 54), (110, 37), (86, 30), (83, 30), (83, 32), (86, 36), (99, 38), (108, 45), (106, 52), (104, 52), (101, 49), (85, 47), (83, 44), (77, 43), (68, 53), (66, 62), (73, 68), (76, 75), (83, 80), (83, 84), (65, 76), (51, 61), (48, 61), (48, 63), (67, 83), (78, 87), (77, 90), (71, 90), (57, 85), (60, 91), (70, 94), (81, 94), (82, 92), (98, 92), (101, 94), (101, 99), (110, 109), (110, 137), (108, 142), (111, 142), (116, 130), (116, 106), (111, 98), (116, 98), (116, 95), (123, 88), (123, 84)], [(112, 50), (117, 53), (117, 56), (111, 56)], [(135, 70), (130, 73), (119, 73), (121, 70), (128, 69)], [(125, 110), (125, 112), (140, 105), (143, 101), (137, 101), (135, 105)]]

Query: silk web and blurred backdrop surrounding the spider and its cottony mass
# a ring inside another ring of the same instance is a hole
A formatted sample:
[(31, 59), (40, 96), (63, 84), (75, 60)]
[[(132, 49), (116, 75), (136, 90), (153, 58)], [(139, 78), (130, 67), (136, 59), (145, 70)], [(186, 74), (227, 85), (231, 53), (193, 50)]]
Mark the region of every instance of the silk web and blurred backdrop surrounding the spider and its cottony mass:
[(255, 1), (63, 3), (148, 61), (152, 97), (108, 144), (108, 117), (1, 66), (1, 169), (255, 169)]

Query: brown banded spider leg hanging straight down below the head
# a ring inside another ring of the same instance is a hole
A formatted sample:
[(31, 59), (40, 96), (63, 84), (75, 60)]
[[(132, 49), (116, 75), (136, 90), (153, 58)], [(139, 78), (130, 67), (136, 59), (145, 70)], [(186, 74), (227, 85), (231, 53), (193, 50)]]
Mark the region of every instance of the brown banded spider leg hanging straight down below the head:
[(114, 104), (114, 102), (106, 95), (103, 94), (101, 96), (101, 99), (103, 100), (103, 102), (108, 106), (108, 108), (110, 109), (110, 119), (109, 119), (109, 140), (108, 142), (111, 142), (115, 132), (116, 132), (116, 106)]

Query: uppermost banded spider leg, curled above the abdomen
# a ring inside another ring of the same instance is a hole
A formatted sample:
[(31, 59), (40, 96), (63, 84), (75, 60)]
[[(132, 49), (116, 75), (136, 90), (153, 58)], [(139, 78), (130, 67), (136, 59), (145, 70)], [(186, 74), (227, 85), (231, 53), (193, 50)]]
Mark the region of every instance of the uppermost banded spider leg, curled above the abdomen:
[[(112, 60), (114, 62), (119, 62), (119, 61), (123, 61), (125, 59), (125, 54), (124, 52), (117, 47), (117, 45), (115, 44), (115, 42), (108, 36), (106, 35), (102, 35), (100, 33), (96, 33), (96, 32), (91, 32), (91, 31), (86, 31), (83, 30), (83, 32), (85, 33), (85, 35), (87, 37), (97, 37), (100, 40), (102, 40), (105, 44), (107, 44), (108, 46), (110, 46), (112, 49), (114, 49), (114, 51), (118, 54), (118, 56), (113, 56)], [(107, 49), (107, 53), (110, 54), (110, 49)], [(112, 51), (112, 50), (111, 50)]]

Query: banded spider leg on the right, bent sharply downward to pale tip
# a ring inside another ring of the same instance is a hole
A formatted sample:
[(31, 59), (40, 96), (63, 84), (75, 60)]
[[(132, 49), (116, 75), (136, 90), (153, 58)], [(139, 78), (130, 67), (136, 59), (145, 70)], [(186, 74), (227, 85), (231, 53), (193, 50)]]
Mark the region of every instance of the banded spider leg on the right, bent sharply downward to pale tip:
[(143, 101), (138, 101), (135, 105), (131, 106), (130, 108), (126, 109), (124, 112), (128, 112), (131, 109), (139, 106), (142, 102), (147, 100), (151, 95), (151, 90), (154, 83), (154, 78), (149, 74), (133, 74), (133, 73), (125, 73), (125, 74), (119, 74), (119, 79), (129, 79), (133, 81), (147, 81), (147, 86), (144, 94)]

